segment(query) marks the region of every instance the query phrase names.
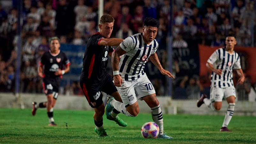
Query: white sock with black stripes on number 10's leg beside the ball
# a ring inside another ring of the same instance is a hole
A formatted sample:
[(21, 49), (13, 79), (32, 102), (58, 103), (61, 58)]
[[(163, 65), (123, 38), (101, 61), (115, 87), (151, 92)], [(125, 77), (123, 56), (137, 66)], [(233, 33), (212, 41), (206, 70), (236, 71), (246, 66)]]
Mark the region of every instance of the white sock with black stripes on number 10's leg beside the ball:
[(164, 120), (163, 120), (163, 114), (162, 114), (160, 105), (157, 105), (157, 106), (151, 108), (151, 115), (152, 115), (153, 121), (159, 127), (158, 135), (163, 135), (164, 134)]

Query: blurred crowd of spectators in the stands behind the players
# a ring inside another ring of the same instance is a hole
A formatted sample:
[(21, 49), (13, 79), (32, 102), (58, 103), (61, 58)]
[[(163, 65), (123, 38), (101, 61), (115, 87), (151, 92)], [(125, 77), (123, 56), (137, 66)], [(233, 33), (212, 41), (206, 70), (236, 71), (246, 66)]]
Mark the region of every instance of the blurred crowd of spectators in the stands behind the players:
[[(0, 3), (0, 91), (13, 92), (17, 60), (18, 0)], [(115, 18), (112, 37), (126, 38), (142, 32), (143, 20), (159, 20), (158, 52), (163, 66), (166, 62), (166, 37), (170, 0), (104, 0), (104, 13)], [(172, 47), (190, 47), (193, 44), (224, 46), (225, 36), (236, 35), (238, 46), (255, 46), (255, 0), (174, 0)], [(21, 45), (21, 92), (42, 93), (41, 78), (37, 74), (40, 57), (49, 50), (48, 38), (58, 36), (61, 43), (86, 45), (98, 31), (98, 1), (95, 0), (23, 0)], [(179, 73), (174, 61), (173, 70)], [(236, 78), (236, 76), (234, 76)], [(157, 95), (165, 95), (163, 77), (152, 79)], [(251, 91), (250, 77), (246, 86), (238, 86), (241, 98), (248, 100)], [(208, 76), (182, 76), (174, 81), (184, 91), (185, 99), (198, 99), (204, 87), (209, 86)], [(208, 85), (207, 85), (208, 84)], [(252, 85), (255, 90), (256, 84)], [(250, 89), (250, 90), (248, 90)], [(241, 92), (242, 91), (242, 92)], [(65, 93), (82, 95), (73, 82)], [(240, 94), (239, 94), (240, 95)]]

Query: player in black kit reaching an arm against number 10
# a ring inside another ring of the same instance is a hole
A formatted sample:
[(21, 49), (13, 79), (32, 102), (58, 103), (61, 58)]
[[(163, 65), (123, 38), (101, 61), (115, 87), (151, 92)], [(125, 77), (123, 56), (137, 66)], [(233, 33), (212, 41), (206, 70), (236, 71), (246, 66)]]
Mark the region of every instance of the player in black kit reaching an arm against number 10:
[[(119, 45), (123, 39), (110, 38), (113, 31), (114, 18), (104, 14), (100, 18), (99, 32), (89, 39), (84, 51), (83, 69), (80, 76), (80, 86), (92, 108), (94, 108), (95, 132), (100, 136), (108, 136), (103, 127), (104, 103), (101, 91), (113, 96), (117, 101), (122, 102), (121, 97), (114, 86), (113, 78), (107, 72), (107, 55), (112, 56), (113, 47)], [(108, 118), (115, 121), (119, 126), (127, 126), (127, 123), (117, 115)]]

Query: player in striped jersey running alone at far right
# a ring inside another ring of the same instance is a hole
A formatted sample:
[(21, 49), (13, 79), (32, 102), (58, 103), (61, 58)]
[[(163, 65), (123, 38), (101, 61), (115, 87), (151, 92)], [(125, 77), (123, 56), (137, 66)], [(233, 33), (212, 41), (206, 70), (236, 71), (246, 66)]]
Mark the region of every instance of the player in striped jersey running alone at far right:
[(234, 112), (236, 99), (232, 70), (236, 69), (240, 76), (238, 84), (244, 83), (245, 76), (241, 69), (240, 57), (234, 51), (234, 47), (237, 44), (236, 38), (233, 35), (228, 35), (225, 44), (226, 47), (217, 49), (206, 63), (206, 66), (212, 70), (210, 99), (206, 98), (206, 95), (202, 95), (197, 102), (197, 107), (205, 103), (214, 111), (219, 111), (222, 99), (225, 98), (228, 102), (228, 109), (220, 131), (232, 132), (227, 128)]

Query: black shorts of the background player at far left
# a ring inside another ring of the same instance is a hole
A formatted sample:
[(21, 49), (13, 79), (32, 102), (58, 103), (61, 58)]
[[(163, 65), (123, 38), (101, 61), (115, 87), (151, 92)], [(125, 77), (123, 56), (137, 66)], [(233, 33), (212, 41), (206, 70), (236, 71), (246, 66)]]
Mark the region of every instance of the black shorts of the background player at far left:
[(61, 78), (44, 78), (43, 89), (46, 95), (53, 94), (53, 98), (57, 99), (59, 95)]

